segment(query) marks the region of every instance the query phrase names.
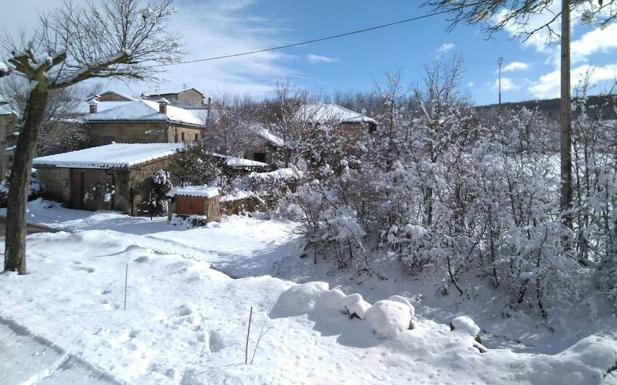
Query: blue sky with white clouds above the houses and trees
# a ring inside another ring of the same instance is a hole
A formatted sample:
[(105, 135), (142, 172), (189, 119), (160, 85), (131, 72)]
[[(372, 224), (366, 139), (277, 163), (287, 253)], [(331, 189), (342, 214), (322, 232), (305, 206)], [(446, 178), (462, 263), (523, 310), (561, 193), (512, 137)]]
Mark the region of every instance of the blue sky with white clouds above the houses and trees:
[[(30, 9), (42, 10), (60, 1), (9, 4), (0, 14), (0, 25), (16, 32), (18, 25), (34, 23)], [(178, 12), (171, 28), (183, 36), (188, 51), (185, 59), (198, 59), (347, 32), (430, 11), (419, 4), (409, 0), (176, 0)], [(487, 39), (480, 26), (461, 25), (449, 31), (448, 25), (445, 15), (436, 16), (279, 52), (177, 65), (156, 83), (106, 82), (103, 86), (133, 94), (188, 86), (207, 95), (259, 97), (267, 95), (276, 81), (289, 80), (326, 94), (370, 91), (387, 72), (400, 70), (404, 80), (413, 84), (421, 80), (424, 65), (460, 54), (465, 60), (461, 90), (477, 104), (497, 101), (500, 56), (505, 68), (504, 101), (558, 96), (559, 47), (547, 45), (545, 36), (522, 42), (513, 38), (510, 28)], [(578, 22), (575, 13), (572, 51), (573, 82), (596, 67), (594, 91), (604, 90), (617, 76), (617, 25), (593, 30)]]

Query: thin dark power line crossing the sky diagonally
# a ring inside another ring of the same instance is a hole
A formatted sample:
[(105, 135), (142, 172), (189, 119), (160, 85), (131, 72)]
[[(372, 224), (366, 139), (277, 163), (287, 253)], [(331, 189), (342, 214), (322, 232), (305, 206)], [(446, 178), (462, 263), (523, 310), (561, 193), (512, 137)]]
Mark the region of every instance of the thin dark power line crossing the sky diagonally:
[(378, 29), (388, 28), (388, 27), (392, 27), (392, 26), (395, 26), (395, 25), (399, 25), (399, 24), (409, 23), (409, 22), (412, 22), (412, 21), (428, 19), (429, 17), (441, 15), (441, 14), (448, 13), (448, 12), (449, 11), (432, 12), (432, 13), (427, 13), (427, 14), (420, 15), (420, 16), (410, 17), (410, 18), (403, 19), (403, 20), (393, 21), (393, 22), (386, 23), (386, 24), (376, 25), (376, 26), (373, 26), (373, 27), (357, 29), (357, 30), (354, 30), (354, 31), (339, 33), (339, 34), (336, 34), (336, 35), (329, 35), (329, 36), (319, 37), (319, 38), (311, 39), (311, 40), (299, 41), (299, 42), (296, 42), (296, 43), (284, 44), (284, 45), (279, 45), (279, 46), (270, 47), (270, 48), (264, 48), (264, 49), (257, 49), (257, 50), (253, 50), (253, 51), (238, 52), (238, 53), (229, 54), (229, 55), (213, 56), (213, 57), (208, 57), (208, 58), (204, 58), (204, 59), (185, 60), (185, 61), (180, 61), (180, 62), (170, 63), (170, 64), (158, 64), (158, 65), (154, 65), (153, 67), (163, 67), (163, 66), (171, 66), (171, 65), (177, 65), (177, 64), (189, 64), (189, 63), (198, 63), (198, 62), (222, 60), (222, 59), (229, 59), (229, 58), (234, 58), (234, 57), (239, 57), (239, 56), (254, 55), (256, 53), (278, 51), (278, 50), (285, 49), (285, 48), (293, 48), (293, 47), (298, 47), (298, 46), (301, 46), (301, 45), (319, 43), (319, 42), (326, 41), (326, 40), (333, 40), (333, 39), (338, 39), (338, 38), (341, 38), (341, 37), (357, 35), (357, 34), (360, 34), (360, 33), (375, 31), (375, 30), (378, 30)]

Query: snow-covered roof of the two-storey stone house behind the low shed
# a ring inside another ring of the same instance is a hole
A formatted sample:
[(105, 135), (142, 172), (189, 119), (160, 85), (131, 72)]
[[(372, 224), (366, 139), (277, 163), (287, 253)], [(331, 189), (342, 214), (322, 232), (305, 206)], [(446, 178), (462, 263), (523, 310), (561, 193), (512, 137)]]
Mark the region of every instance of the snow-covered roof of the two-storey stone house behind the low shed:
[(90, 114), (85, 117), (85, 120), (88, 122), (170, 121), (196, 126), (203, 126), (205, 124), (205, 121), (200, 114), (194, 114), (184, 108), (168, 105), (167, 114), (162, 114), (159, 112), (159, 103), (151, 100), (140, 99), (133, 102), (119, 103), (122, 104), (104, 111)]

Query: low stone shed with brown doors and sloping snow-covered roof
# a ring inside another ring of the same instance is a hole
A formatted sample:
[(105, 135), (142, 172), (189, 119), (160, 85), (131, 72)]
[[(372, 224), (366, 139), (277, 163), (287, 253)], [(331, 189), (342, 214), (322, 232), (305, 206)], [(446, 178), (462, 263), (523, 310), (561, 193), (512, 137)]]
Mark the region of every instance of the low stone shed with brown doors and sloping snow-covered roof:
[(153, 174), (182, 149), (176, 143), (114, 143), (35, 158), (45, 197), (67, 207), (137, 214)]

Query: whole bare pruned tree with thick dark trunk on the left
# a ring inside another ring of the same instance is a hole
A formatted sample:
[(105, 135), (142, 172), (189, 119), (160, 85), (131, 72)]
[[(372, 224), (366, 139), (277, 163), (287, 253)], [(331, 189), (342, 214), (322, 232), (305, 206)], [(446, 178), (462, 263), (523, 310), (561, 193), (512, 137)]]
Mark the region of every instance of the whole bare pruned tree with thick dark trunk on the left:
[(26, 273), (28, 176), (50, 92), (91, 78), (153, 76), (160, 67), (152, 64), (171, 63), (180, 54), (177, 37), (167, 30), (172, 13), (170, 0), (65, 3), (41, 16), (30, 36), (5, 37), (8, 71), (1, 74), (31, 85), (9, 177), (5, 271)]

